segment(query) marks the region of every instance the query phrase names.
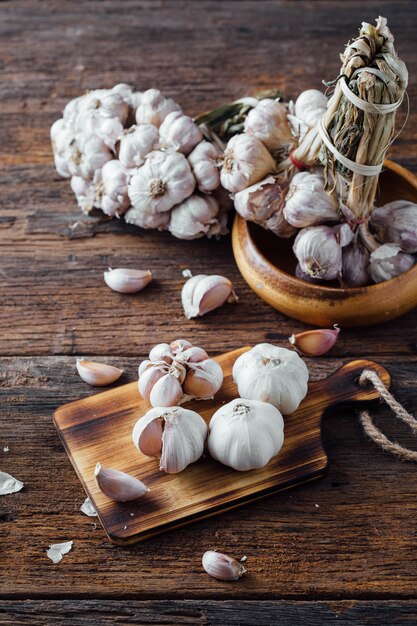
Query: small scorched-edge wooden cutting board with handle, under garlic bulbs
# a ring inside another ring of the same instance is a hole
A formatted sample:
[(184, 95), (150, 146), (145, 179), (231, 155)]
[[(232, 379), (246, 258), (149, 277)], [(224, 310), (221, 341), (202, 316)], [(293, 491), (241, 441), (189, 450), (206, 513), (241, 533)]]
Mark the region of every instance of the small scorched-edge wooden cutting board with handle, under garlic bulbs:
[[(217, 358), (225, 379), (214, 400), (185, 406), (208, 423), (220, 405), (236, 398), (231, 370), (248, 349)], [(338, 404), (362, 404), (379, 397), (373, 387), (358, 384), (367, 367), (389, 386), (388, 372), (363, 360), (351, 361), (328, 378), (310, 383), (298, 410), (284, 418), (285, 441), (278, 456), (266, 467), (249, 472), (236, 472), (208, 454), (180, 474), (159, 471), (158, 461), (140, 454), (132, 442), (136, 420), (150, 408), (139, 396), (136, 383), (66, 404), (55, 411), (54, 423), (109, 539), (127, 545), (320, 477), (327, 465), (320, 433), (324, 412)], [(94, 480), (97, 462), (136, 476), (150, 492), (134, 502), (109, 500)]]

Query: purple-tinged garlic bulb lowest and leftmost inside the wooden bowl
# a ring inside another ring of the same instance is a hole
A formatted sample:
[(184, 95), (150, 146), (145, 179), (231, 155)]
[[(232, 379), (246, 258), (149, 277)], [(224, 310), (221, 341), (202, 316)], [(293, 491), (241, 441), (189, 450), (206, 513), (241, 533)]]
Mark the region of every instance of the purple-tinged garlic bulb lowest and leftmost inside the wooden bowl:
[(348, 224), (303, 228), (293, 246), (301, 271), (320, 280), (340, 278), (342, 247), (348, 245), (352, 237)]

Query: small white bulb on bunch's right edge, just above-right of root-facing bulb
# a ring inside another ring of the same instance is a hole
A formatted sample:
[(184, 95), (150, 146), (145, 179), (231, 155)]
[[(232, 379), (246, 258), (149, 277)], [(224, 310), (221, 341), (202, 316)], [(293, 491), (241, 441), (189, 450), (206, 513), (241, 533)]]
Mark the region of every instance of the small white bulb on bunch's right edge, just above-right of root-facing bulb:
[(159, 127), (159, 137), (162, 148), (187, 155), (202, 141), (203, 134), (191, 117), (181, 111), (172, 111)]

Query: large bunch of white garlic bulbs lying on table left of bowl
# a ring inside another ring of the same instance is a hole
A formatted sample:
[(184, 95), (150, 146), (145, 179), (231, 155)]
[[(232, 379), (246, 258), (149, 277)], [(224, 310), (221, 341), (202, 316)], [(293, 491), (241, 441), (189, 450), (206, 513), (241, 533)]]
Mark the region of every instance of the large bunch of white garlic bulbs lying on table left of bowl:
[[(158, 89), (96, 89), (71, 100), (51, 128), (55, 167), (84, 213), (101, 209), (180, 239), (227, 230), (220, 154)], [(214, 195), (216, 194), (217, 195)]]

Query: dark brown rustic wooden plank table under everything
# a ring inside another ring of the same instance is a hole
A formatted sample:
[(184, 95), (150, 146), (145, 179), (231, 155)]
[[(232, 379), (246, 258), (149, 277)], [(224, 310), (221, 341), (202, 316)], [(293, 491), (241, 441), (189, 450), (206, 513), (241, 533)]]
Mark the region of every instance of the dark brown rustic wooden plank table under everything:
[[(58, 405), (93, 393), (77, 376), (77, 355), (121, 365), (127, 382), (160, 341), (185, 336), (218, 354), (260, 341), (286, 346), (303, 328), (249, 290), (229, 238), (181, 242), (80, 218), (49, 144), (67, 100), (120, 81), (158, 86), (193, 114), (260, 88), (292, 97), (334, 78), (342, 45), (379, 13), (411, 75), (410, 116), (391, 156), (416, 172), (411, 0), (1, 3), (0, 467), (25, 489), (0, 501), (0, 624), (417, 620), (415, 466), (366, 441), (353, 411), (324, 423), (330, 467), (322, 480), (131, 549), (111, 545), (80, 513), (84, 493), (51, 419)], [(152, 268), (156, 281), (146, 297), (112, 294), (102, 280), (109, 265)], [(186, 321), (179, 291), (187, 267), (229, 276), (238, 307)], [(416, 320), (414, 312), (343, 331), (330, 357), (309, 363), (312, 376), (371, 357), (415, 410)], [(412, 445), (385, 409), (375, 415)], [(69, 539), (73, 550), (53, 565), (45, 549)], [(232, 584), (208, 578), (201, 555), (215, 548), (247, 555), (249, 574)]]

